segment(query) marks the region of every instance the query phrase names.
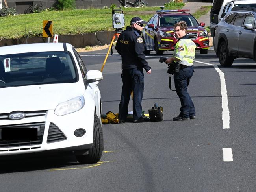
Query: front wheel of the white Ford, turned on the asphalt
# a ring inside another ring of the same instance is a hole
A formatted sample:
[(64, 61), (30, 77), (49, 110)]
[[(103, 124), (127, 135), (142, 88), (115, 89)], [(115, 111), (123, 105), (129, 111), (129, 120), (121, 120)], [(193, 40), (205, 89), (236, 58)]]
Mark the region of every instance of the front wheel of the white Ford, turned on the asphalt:
[(81, 164), (91, 164), (100, 161), (102, 152), (104, 150), (103, 132), (100, 120), (96, 114), (94, 114), (93, 124), (93, 146), (89, 149), (88, 155), (76, 155), (76, 159)]

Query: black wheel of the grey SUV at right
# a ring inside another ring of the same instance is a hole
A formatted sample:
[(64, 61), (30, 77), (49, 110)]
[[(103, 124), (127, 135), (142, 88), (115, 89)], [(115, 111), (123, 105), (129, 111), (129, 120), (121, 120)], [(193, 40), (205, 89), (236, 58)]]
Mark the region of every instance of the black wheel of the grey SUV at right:
[(228, 55), (228, 46), (223, 41), (218, 48), (219, 63), (221, 66), (231, 66), (234, 62), (234, 57)]

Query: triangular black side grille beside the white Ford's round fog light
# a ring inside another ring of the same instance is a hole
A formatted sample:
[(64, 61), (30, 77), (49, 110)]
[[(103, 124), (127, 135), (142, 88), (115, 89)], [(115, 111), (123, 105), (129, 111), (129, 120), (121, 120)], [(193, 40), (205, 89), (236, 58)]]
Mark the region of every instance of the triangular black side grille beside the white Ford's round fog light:
[(50, 123), (48, 137), (47, 137), (47, 143), (58, 142), (58, 141), (66, 140), (66, 139), (67, 139), (67, 137), (59, 129), (59, 127), (57, 127), (53, 123)]

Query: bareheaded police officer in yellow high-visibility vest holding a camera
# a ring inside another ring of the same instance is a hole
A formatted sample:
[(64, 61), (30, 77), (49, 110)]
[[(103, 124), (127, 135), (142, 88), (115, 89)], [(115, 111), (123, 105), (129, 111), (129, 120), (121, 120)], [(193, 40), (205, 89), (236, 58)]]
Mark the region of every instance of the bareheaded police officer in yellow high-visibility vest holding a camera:
[(174, 117), (174, 121), (189, 120), (196, 118), (194, 103), (188, 92), (190, 78), (193, 76), (193, 61), (195, 58), (195, 43), (187, 35), (187, 24), (184, 21), (174, 24), (174, 33), (179, 41), (173, 51), (173, 57), (168, 58), (165, 63), (179, 63), (179, 72), (174, 72), (174, 83), (178, 97), (180, 98), (180, 114)]

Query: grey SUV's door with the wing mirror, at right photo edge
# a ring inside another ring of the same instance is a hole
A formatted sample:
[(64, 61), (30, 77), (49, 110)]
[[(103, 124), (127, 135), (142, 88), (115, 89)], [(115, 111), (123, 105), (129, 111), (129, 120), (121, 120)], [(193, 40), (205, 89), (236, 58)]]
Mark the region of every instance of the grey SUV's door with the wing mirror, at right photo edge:
[[(243, 23), (243, 26), (245, 24), (252, 24), (253, 27), (255, 27), (255, 18), (252, 13), (247, 13), (245, 17), (245, 21)], [(248, 57), (253, 57), (254, 52), (254, 39), (256, 36), (255, 30), (246, 29), (244, 27), (241, 27), (238, 32), (238, 52), (241, 55), (248, 55)]]

